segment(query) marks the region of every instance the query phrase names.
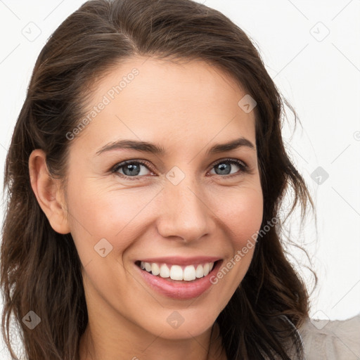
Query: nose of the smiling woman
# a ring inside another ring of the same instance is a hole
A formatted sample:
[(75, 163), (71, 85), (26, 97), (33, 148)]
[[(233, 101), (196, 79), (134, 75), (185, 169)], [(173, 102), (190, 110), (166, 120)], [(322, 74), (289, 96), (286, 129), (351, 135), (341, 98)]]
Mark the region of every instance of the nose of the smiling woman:
[(186, 175), (179, 184), (165, 181), (158, 213), (161, 236), (186, 243), (210, 236), (215, 229), (216, 216), (205, 190), (195, 176)]

